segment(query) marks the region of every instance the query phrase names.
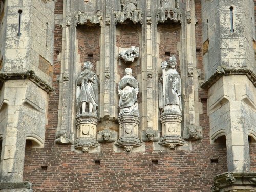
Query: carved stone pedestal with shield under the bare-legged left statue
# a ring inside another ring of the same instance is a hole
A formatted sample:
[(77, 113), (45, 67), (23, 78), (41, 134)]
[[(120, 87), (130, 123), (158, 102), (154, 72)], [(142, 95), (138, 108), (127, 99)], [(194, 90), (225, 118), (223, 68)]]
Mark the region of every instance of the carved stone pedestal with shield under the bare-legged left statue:
[(96, 139), (97, 117), (95, 115), (78, 115), (76, 117), (77, 139), (74, 142), (74, 148), (88, 153), (90, 148), (97, 148)]

